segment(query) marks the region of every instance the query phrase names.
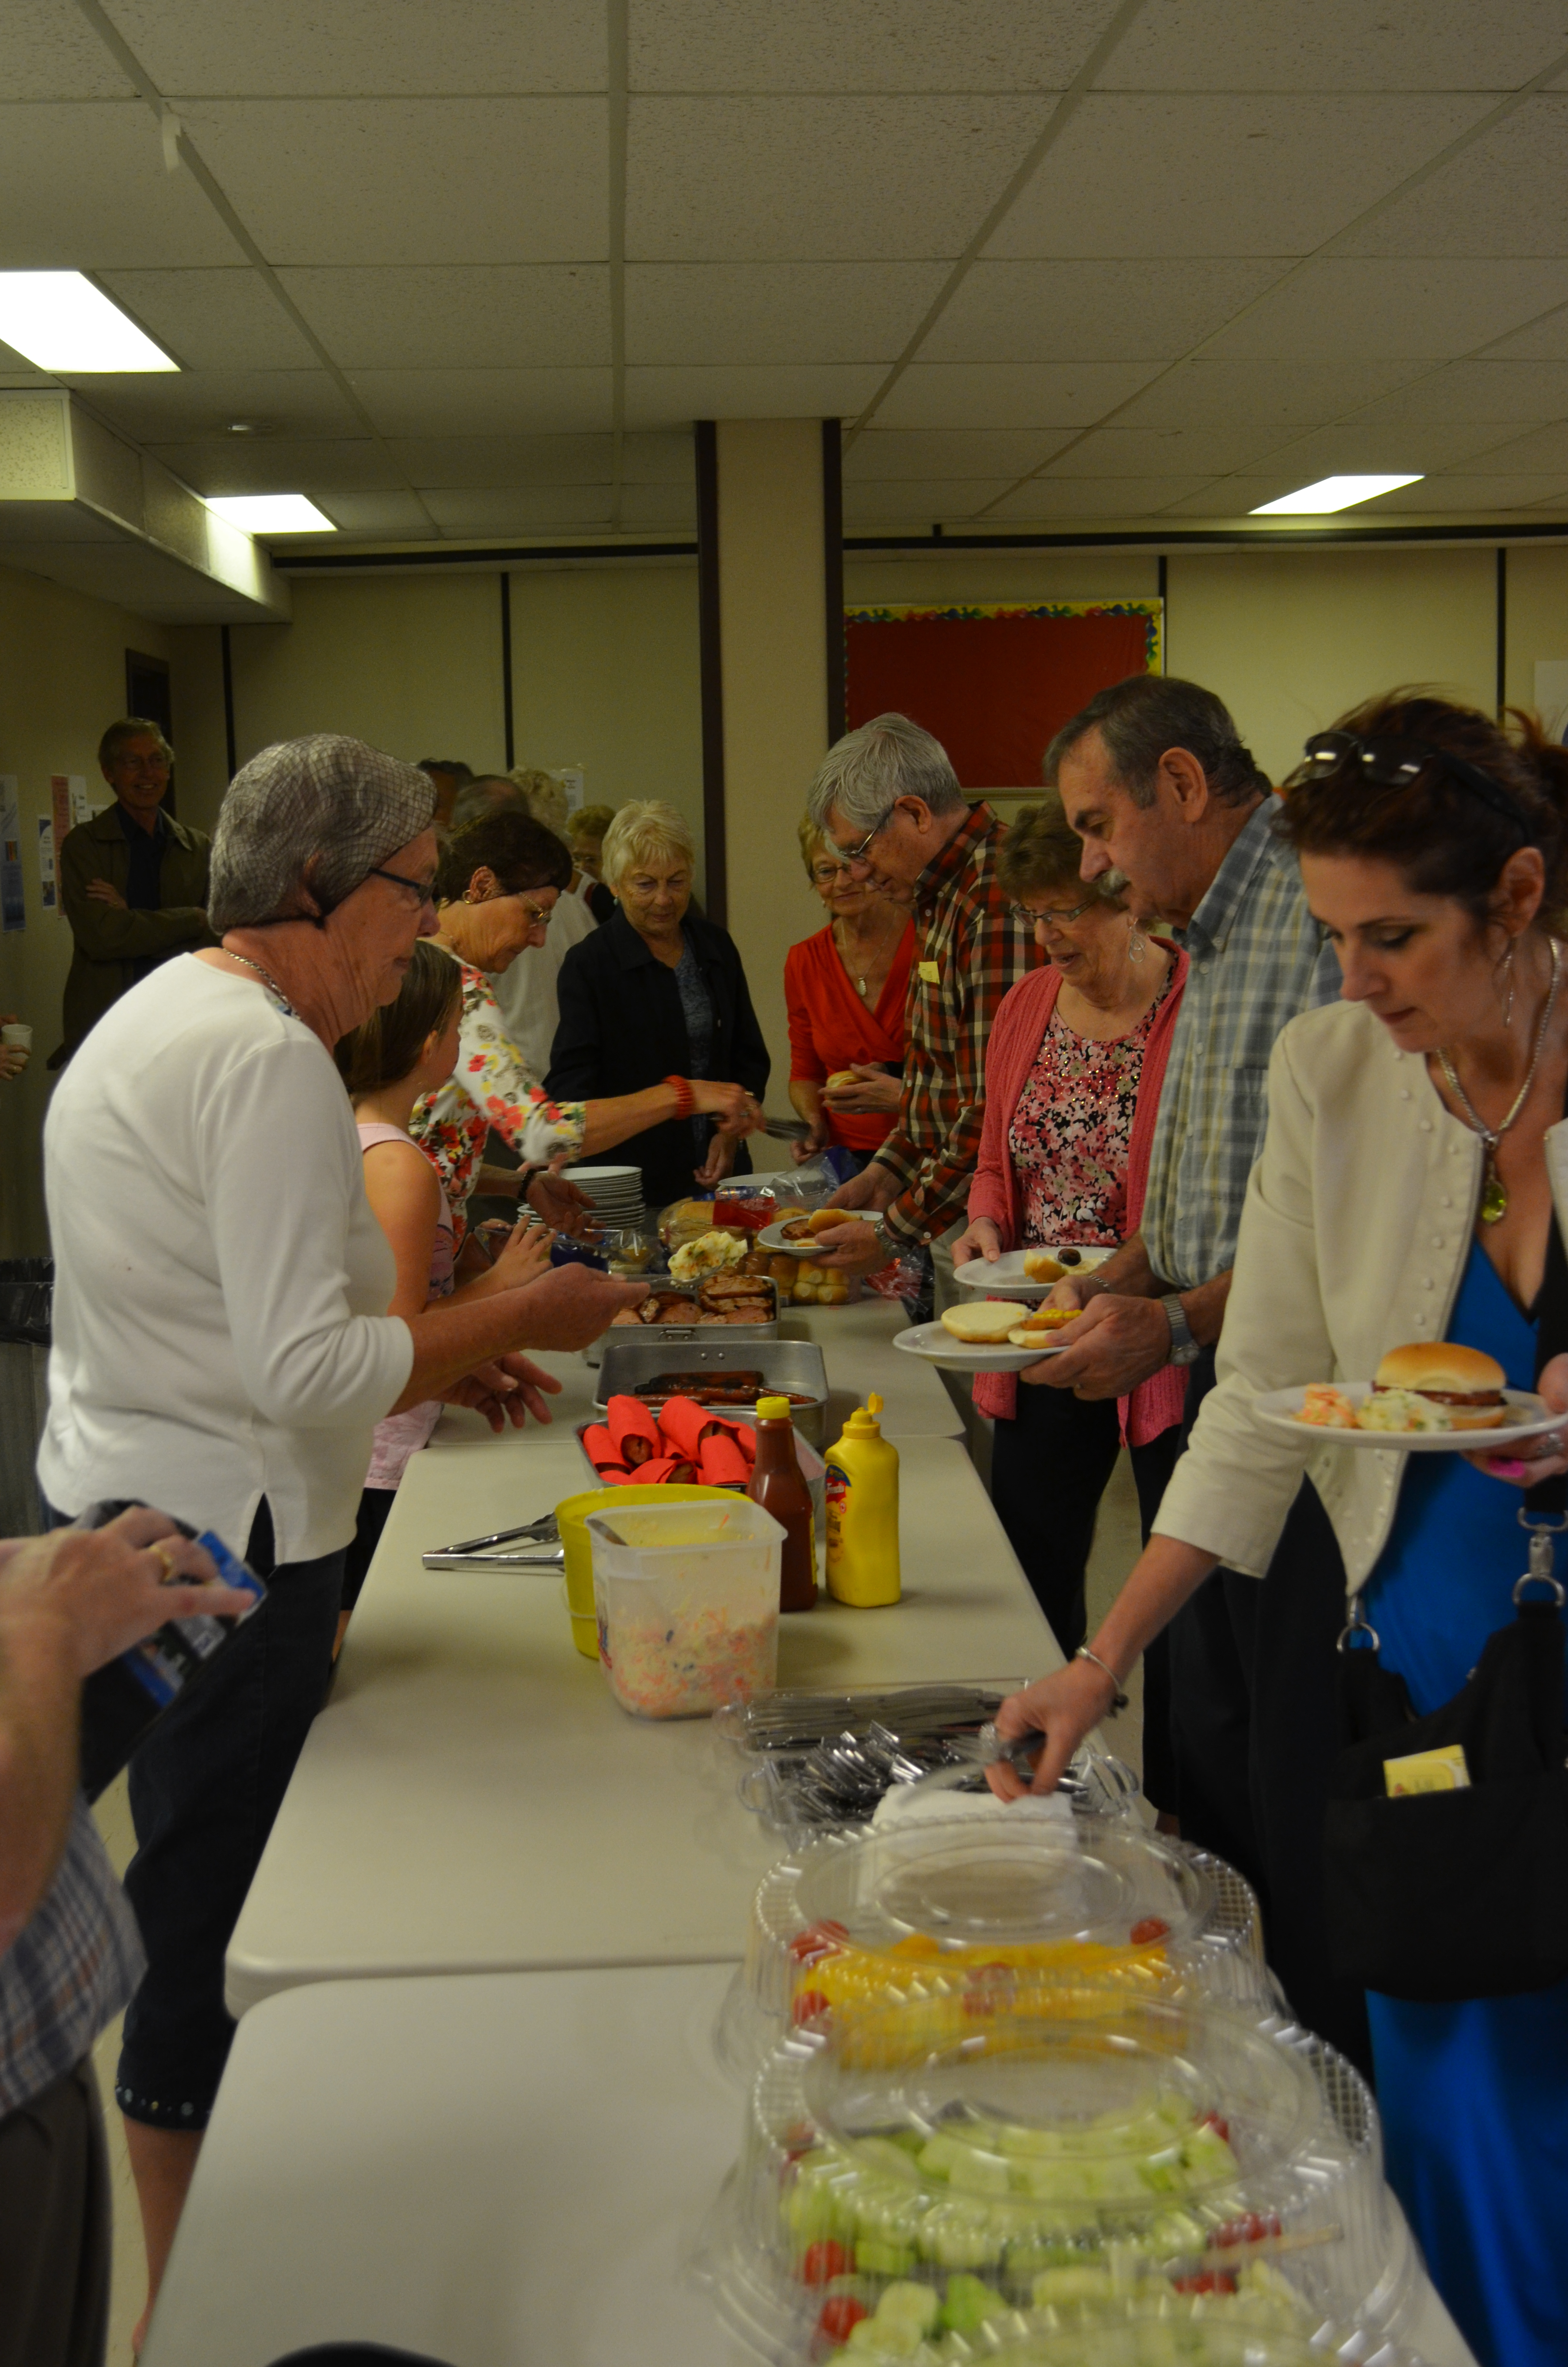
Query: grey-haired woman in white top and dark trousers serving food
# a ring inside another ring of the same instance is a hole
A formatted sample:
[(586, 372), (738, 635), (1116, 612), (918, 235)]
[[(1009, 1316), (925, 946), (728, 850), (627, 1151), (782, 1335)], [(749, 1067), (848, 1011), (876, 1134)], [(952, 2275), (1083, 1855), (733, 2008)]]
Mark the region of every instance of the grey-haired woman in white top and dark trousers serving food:
[(218, 817), (220, 944), (99, 1020), (45, 1124), (54, 1352), (38, 1475), (73, 1517), (168, 1505), (268, 1576), (268, 1600), (130, 1766), (147, 1979), (118, 2102), (156, 2284), (232, 2021), (223, 1950), (327, 1683), (372, 1430), (448, 1397), (547, 1420), (519, 1352), (587, 1347), (642, 1297), (583, 1266), (388, 1316), (332, 1046), (396, 999), (431, 935), (433, 791), (317, 734), (263, 748)]

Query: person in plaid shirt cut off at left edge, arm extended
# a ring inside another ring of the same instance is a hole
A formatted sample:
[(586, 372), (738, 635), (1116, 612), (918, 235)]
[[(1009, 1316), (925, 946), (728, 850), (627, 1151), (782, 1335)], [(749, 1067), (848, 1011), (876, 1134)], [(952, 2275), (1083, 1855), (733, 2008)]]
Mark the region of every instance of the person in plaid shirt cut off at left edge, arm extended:
[(163, 1513), (0, 1541), (0, 2362), (97, 2367), (109, 2175), (92, 2040), (142, 1976), (130, 1901), (78, 1789), (83, 1678), (166, 1619), (249, 1595)]

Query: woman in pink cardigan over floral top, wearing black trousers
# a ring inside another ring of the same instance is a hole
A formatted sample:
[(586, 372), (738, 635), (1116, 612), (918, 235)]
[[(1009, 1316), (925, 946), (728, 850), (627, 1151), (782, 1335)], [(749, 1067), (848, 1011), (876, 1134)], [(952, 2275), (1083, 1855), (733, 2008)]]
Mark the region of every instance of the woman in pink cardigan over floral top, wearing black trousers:
[[(1153, 1112), (1187, 954), (1146, 937), (1118, 890), (1078, 876), (1080, 838), (1047, 791), (1007, 833), (997, 876), (1035, 923), (1047, 968), (1004, 997), (985, 1049), (985, 1129), (969, 1231), (955, 1264), (1002, 1250), (1113, 1247), (1137, 1231)], [(983, 1373), (981, 1413), (995, 1415), (990, 1494), (1056, 1643), (1085, 1638), (1085, 1567), (1094, 1515), (1123, 1442), (1132, 1451), (1144, 1541), (1182, 1439), (1182, 1380), (1165, 1368), (1116, 1406), (1030, 1387), (1028, 1373)], [(1172, 1806), (1170, 1688), (1158, 1652), (1144, 1657), (1144, 1789)]]

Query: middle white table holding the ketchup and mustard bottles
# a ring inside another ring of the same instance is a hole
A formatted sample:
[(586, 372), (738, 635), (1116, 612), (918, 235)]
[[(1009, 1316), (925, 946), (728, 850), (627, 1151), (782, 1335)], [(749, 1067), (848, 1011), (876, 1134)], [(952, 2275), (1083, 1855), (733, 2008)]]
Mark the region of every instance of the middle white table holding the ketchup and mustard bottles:
[[(905, 1600), (857, 1612), (822, 1595), (784, 1619), (784, 1685), (1021, 1681), (1059, 1666), (973, 1465), (945, 1434), (947, 1392), (886, 1347), (900, 1323), (883, 1304), (791, 1316), (824, 1344), (834, 1408), (881, 1385), (917, 1420), (924, 1401), (928, 1427), (900, 1432), (883, 1415), (902, 1456)], [(592, 1484), (571, 1425), (595, 1375), (578, 1356), (540, 1361), (564, 1382), (547, 1430), (493, 1439), (476, 1415), (448, 1415), (407, 1468), (230, 1943), (234, 2014), (301, 1981), (741, 1955), (779, 1844), (737, 1804), (737, 1766), (708, 1723), (642, 1723), (616, 1707), (571, 1640), (559, 1572), (419, 1562)]]

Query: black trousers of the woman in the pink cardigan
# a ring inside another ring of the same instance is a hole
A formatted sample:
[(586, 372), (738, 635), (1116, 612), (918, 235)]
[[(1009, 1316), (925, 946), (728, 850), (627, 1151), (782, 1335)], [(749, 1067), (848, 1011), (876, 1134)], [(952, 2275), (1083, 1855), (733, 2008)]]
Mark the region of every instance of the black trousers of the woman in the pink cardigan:
[[(1182, 1432), (1165, 1430), (1132, 1446), (1132, 1484), (1149, 1543), (1165, 1482), (1182, 1451)], [(1071, 1389), (1018, 1387), (1011, 1420), (997, 1415), (990, 1449), (990, 1501), (1023, 1576), (1071, 1659), (1085, 1640), (1085, 1569), (1094, 1546), (1099, 1498), (1120, 1453), (1116, 1399), (1080, 1399)], [(1156, 1808), (1175, 1808), (1170, 1756), (1170, 1676), (1165, 1638), (1144, 1652), (1144, 1792)]]

